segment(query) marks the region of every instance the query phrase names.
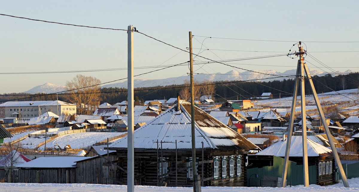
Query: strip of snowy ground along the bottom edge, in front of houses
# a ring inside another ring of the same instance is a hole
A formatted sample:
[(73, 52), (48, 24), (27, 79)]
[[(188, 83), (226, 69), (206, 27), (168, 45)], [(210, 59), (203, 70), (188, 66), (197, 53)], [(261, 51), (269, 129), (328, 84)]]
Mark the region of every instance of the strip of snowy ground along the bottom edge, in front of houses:
[[(234, 192), (234, 191), (315, 191), (315, 192), (339, 192), (359, 191), (359, 178), (349, 179), (350, 188), (343, 187), (342, 183), (331, 186), (310, 185), (309, 187), (293, 186), (286, 188), (272, 187), (202, 187), (203, 192)], [(55, 183), (0, 183), (1, 191), (116, 191), (126, 192), (124, 185), (102, 185), (102, 184), (55, 184)], [(188, 192), (193, 191), (190, 187), (154, 187), (135, 186), (136, 192)]]

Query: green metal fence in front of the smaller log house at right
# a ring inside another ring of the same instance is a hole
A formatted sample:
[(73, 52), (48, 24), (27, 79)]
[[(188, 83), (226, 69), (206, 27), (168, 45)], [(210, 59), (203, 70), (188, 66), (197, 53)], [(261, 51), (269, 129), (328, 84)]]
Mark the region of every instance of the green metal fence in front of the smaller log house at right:
[[(250, 183), (250, 178), (253, 179), (252, 175), (258, 175), (258, 179), (263, 179), (265, 175), (273, 177), (282, 177), (282, 170), (284, 165), (284, 159), (274, 156), (273, 166), (266, 166), (262, 168), (251, 168), (247, 169), (247, 183)], [(315, 165), (309, 166), (309, 184), (317, 183), (317, 168)], [(251, 177), (252, 176), (252, 177)], [(287, 173), (288, 185), (302, 185), (303, 180), (303, 165), (297, 165), (293, 161), (289, 161), (288, 173)]]

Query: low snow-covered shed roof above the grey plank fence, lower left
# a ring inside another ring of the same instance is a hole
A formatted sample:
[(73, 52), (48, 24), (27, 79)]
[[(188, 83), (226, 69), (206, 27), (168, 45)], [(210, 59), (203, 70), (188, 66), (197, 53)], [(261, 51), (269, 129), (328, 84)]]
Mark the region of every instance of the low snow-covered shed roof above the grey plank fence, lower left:
[(39, 157), (27, 163), (18, 165), (18, 168), (72, 168), (76, 161), (91, 157)]

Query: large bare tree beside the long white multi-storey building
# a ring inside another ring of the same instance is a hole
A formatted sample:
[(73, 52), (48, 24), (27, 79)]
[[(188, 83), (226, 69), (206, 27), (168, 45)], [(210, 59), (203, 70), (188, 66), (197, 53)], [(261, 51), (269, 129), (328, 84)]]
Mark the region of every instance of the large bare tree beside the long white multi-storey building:
[[(98, 85), (101, 81), (97, 78), (84, 75), (76, 75), (73, 80), (66, 81), (69, 95), (67, 99), (76, 103), (80, 114), (92, 113), (93, 107), (97, 106), (101, 87)], [(95, 86), (93, 86), (95, 85)]]

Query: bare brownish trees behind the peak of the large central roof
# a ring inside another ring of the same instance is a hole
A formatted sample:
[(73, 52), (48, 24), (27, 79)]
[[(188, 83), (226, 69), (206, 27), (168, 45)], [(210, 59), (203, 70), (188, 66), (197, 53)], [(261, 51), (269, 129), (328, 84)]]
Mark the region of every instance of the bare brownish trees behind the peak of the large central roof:
[[(201, 100), (203, 98), (200, 98), (201, 95), (209, 95), (213, 99), (213, 95), (215, 93), (215, 85), (209, 85), (211, 81), (205, 80), (202, 82), (194, 81), (194, 96), (195, 100)], [(190, 100), (191, 99), (191, 87), (190, 87), (190, 81), (185, 80), (184, 85), (185, 88), (182, 88), (180, 91), (180, 95), (182, 99)], [(197, 85), (197, 86), (196, 86)]]

